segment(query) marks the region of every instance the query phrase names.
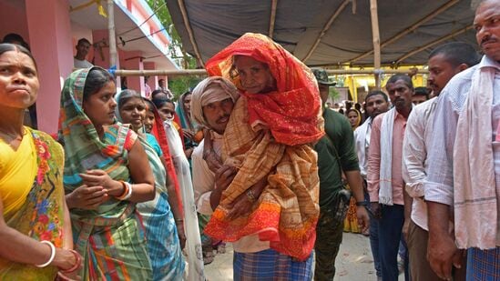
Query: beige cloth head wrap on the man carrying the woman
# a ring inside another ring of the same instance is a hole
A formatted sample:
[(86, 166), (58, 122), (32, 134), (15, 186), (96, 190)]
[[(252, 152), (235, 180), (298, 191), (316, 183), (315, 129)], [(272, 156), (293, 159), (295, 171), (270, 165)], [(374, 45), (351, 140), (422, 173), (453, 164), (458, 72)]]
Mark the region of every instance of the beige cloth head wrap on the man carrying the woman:
[(191, 118), (196, 120), (198, 124), (209, 128), (209, 123), (205, 119), (205, 115), (203, 115), (203, 106), (227, 98), (236, 103), (239, 97), (238, 89), (230, 80), (220, 76), (205, 78), (194, 88), (191, 95)]

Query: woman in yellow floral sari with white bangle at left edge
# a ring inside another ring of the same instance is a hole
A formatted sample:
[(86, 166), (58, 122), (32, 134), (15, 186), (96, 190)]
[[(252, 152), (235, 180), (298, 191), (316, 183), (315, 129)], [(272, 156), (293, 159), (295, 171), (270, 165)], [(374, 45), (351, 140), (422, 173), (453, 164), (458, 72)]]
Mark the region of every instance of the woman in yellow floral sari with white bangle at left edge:
[(29, 51), (0, 44), (0, 280), (54, 280), (59, 270), (76, 271), (81, 259), (68, 250), (63, 149), (23, 125), (38, 88)]

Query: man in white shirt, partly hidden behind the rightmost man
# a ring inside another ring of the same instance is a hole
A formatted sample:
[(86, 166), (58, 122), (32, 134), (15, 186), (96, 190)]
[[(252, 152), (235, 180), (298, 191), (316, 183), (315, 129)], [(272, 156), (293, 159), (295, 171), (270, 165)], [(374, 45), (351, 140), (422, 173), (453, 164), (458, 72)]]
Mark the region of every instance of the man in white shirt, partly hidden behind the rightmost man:
[[(474, 47), (454, 42), (440, 45), (429, 55), (429, 85), (438, 96), (444, 85), (457, 73), (479, 61)], [(403, 179), (406, 192), (413, 199), (409, 208), (411, 219), (405, 220), (403, 233), (406, 235), (410, 255), (410, 274), (415, 281), (439, 281), (427, 261), (427, 207), (423, 201), (423, 182), (427, 175), (427, 149), (433, 139), (434, 110), (437, 97), (417, 105), (408, 118), (403, 141)], [(464, 270), (455, 272), (454, 278), (464, 280)]]

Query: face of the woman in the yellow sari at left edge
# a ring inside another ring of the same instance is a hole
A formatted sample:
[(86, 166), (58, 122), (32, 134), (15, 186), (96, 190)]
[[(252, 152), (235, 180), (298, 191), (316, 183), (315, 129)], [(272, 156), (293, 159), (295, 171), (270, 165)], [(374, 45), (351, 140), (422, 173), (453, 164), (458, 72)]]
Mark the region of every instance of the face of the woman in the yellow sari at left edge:
[(0, 104), (26, 109), (36, 101), (40, 83), (31, 57), (18, 51), (0, 55)]

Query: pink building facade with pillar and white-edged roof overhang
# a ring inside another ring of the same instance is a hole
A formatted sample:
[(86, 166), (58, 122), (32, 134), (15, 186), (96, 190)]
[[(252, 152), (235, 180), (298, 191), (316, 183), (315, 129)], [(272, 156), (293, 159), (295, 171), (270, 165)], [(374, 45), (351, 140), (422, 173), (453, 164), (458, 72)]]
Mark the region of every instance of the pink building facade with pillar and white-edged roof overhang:
[[(85, 5), (85, 4), (90, 5)], [(107, 13), (107, 1), (100, 1)], [(36, 101), (40, 130), (56, 133), (64, 79), (73, 71), (77, 40), (93, 44), (87, 60), (109, 68), (107, 17), (88, 0), (0, 0), (0, 39), (9, 33), (23, 36), (36, 58), (40, 91)], [(114, 0), (117, 68), (178, 69), (168, 56), (170, 37), (144, 0)], [(150, 16), (153, 15), (153, 16)], [(152, 76), (148, 85), (155, 89)], [(117, 87), (122, 79), (117, 77)], [(129, 76), (128, 88), (144, 93), (144, 77)]]

